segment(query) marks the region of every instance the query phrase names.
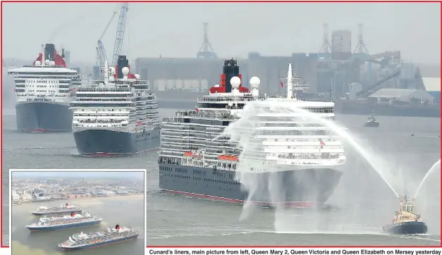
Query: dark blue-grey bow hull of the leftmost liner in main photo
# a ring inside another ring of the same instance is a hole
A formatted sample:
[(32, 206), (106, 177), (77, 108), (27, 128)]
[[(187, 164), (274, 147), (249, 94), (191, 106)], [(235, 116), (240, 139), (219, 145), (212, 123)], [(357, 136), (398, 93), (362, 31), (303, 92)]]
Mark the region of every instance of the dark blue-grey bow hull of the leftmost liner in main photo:
[(58, 102), (18, 102), (16, 121), (19, 132), (65, 132), (72, 130), (73, 112)]

